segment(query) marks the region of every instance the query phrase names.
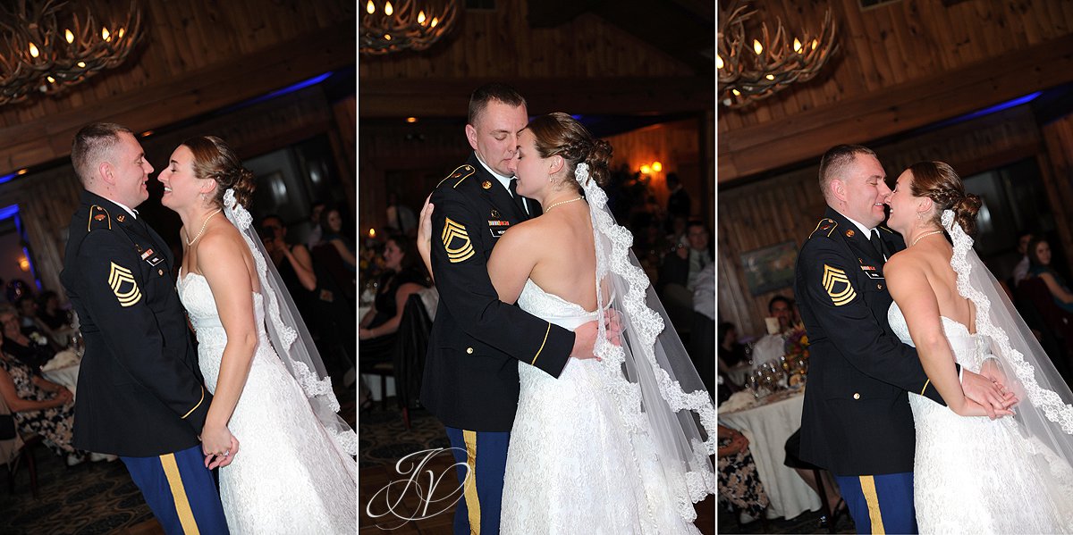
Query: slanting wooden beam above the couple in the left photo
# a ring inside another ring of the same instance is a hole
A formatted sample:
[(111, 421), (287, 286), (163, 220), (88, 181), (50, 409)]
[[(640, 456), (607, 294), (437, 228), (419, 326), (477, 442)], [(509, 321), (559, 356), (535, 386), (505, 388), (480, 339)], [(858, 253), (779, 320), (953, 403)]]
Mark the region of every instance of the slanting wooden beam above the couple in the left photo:
[(67, 158), (83, 125), (113, 121), (135, 131), (166, 127), (353, 65), (355, 25), (343, 21), (293, 41), (84, 106), (0, 129), (0, 174)]

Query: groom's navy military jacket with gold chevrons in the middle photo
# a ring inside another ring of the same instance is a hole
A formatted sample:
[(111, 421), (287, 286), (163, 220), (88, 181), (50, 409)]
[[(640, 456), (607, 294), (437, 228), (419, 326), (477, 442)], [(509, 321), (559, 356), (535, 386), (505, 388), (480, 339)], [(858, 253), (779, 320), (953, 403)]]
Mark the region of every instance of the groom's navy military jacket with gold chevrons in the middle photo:
[(440, 304), (421, 402), (447, 427), (510, 431), (518, 361), (558, 377), (574, 335), (499, 300), (487, 261), (499, 237), (527, 217), (475, 154), (440, 182), (431, 202)]

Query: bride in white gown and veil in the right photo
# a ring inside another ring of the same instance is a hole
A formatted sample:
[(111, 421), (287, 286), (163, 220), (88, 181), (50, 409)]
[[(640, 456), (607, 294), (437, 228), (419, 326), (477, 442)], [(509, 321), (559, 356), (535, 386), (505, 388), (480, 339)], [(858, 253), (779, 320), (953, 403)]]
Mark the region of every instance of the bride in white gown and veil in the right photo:
[[(909, 243), (883, 267), (891, 327), (917, 348), (947, 404), (909, 397), (921, 533), (1073, 532), (1070, 389), (972, 251), (980, 198), (949, 165), (922, 162), (886, 204), (888, 226)], [(984, 418), (962, 395), (955, 361), (1004, 377), (1015, 414)]]

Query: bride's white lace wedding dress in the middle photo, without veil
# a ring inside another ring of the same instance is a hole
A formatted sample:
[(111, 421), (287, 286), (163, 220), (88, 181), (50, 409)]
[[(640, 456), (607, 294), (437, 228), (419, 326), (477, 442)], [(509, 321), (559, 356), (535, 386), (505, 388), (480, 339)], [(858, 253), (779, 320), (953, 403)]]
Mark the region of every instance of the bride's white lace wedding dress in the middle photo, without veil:
[[(518, 306), (567, 329), (597, 318), (531, 280)], [(628, 431), (601, 366), (570, 359), (556, 378), (518, 363), (521, 391), (500, 517), (504, 535), (700, 533), (679, 516), (649, 437)]]

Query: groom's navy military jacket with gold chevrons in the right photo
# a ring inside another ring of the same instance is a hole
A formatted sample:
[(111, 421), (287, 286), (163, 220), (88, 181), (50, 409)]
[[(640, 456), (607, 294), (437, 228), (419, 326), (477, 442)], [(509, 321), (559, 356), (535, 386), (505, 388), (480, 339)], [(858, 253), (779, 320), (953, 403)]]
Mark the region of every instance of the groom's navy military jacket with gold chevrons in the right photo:
[[(905, 249), (890, 228), (879, 234), (888, 254)], [(916, 351), (887, 322), (883, 263), (868, 236), (832, 208), (797, 256), (794, 294), (811, 354), (800, 457), (840, 476), (912, 472), (907, 391), (942, 402)]]

